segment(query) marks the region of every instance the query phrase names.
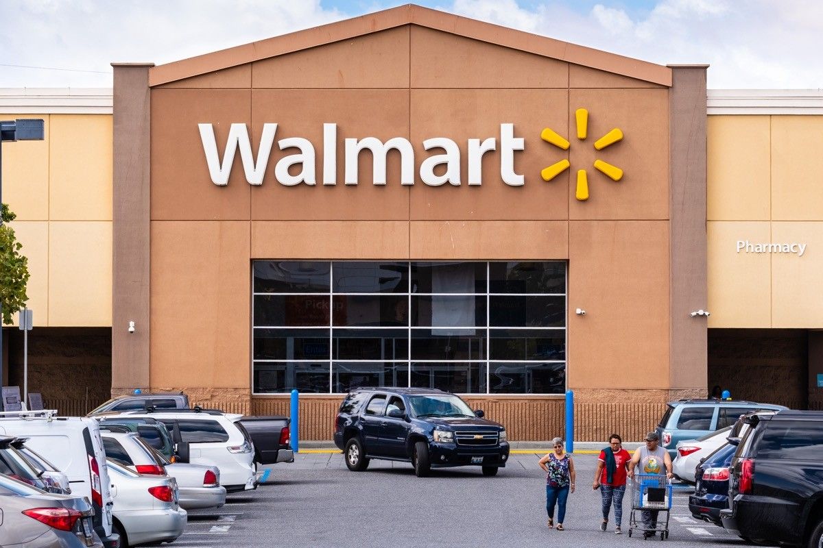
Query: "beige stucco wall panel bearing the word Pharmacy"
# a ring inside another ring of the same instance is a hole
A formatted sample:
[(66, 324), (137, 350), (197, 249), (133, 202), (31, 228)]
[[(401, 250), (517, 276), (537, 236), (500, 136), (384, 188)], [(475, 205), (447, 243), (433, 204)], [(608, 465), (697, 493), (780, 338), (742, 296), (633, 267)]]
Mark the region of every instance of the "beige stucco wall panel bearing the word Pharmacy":
[(709, 327), (823, 327), (823, 116), (713, 115), (708, 140)]

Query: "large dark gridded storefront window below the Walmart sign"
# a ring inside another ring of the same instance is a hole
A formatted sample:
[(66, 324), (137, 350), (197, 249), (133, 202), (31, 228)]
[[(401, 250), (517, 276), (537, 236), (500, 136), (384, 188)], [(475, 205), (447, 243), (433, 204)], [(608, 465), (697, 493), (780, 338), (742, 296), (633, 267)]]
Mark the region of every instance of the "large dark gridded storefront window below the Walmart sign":
[(253, 392), (565, 391), (566, 265), (253, 262)]

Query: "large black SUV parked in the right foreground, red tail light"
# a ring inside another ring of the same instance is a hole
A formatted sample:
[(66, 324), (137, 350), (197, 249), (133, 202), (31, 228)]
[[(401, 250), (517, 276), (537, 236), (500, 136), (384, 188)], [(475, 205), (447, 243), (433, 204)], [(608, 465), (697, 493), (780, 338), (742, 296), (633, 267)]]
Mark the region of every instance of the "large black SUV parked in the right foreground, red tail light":
[(747, 541), (818, 548), (823, 536), (823, 412), (752, 413), (737, 443), (723, 527)]

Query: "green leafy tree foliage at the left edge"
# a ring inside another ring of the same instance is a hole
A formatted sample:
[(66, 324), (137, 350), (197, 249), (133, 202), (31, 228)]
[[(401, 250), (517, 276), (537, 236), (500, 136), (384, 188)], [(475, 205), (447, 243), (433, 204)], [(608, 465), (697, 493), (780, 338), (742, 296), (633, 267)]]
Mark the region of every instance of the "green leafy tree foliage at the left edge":
[(20, 254), (23, 245), (17, 242), (14, 229), (8, 226), (17, 215), (2, 204), (0, 225), (0, 306), (2, 324), (11, 324), (12, 315), (26, 305), (26, 283), (29, 282), (29, 260)]

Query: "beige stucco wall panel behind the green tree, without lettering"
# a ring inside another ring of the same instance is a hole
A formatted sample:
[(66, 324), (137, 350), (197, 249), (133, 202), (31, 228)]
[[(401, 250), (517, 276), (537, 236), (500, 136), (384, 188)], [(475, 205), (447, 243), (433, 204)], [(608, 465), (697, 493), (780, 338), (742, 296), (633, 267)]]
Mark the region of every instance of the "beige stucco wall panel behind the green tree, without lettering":
[(43, 118), (42, 141), (3, 145), (2, 200), (29, 259), (35, 326), (111, 325), (112, 117)]

